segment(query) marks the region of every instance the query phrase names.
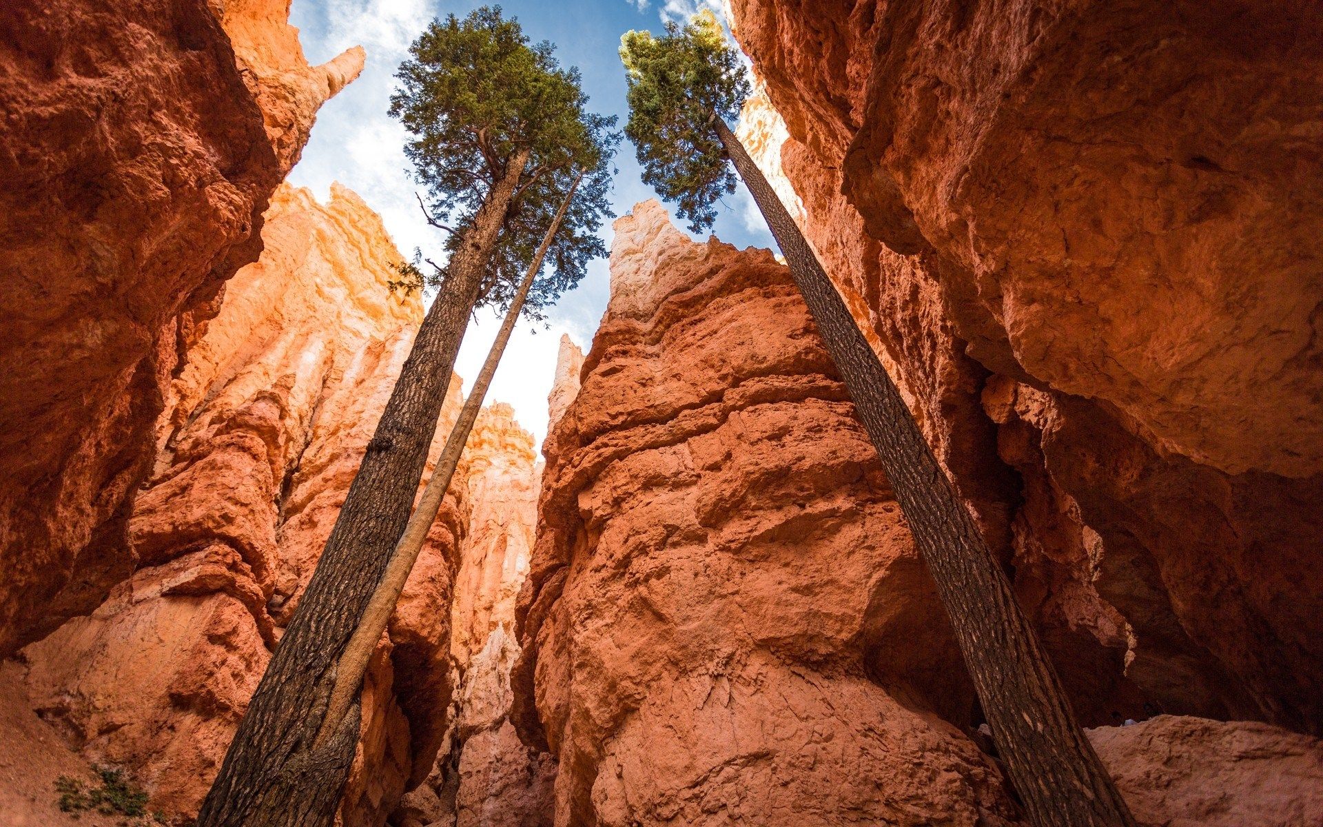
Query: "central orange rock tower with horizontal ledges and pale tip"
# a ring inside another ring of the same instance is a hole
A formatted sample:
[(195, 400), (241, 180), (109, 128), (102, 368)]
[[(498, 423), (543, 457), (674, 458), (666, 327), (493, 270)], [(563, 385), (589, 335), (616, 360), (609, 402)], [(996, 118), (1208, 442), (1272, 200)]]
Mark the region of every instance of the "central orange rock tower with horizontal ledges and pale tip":
[(958, 655), (771, 253), (618, 220), (544, 450), (513, 683), (557, 824), (1016, 820), (931, 711), (970, 715)]

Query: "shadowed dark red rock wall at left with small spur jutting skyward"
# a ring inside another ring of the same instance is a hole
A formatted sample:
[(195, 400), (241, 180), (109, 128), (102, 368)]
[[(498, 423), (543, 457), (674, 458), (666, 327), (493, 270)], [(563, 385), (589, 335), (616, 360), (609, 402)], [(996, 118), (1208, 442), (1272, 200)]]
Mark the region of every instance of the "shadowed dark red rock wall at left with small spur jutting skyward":
[(0, 8), (0, 655), (132, 572), (132, 492), (181, 356), (257, 258), (318, 107), (288, 4)]

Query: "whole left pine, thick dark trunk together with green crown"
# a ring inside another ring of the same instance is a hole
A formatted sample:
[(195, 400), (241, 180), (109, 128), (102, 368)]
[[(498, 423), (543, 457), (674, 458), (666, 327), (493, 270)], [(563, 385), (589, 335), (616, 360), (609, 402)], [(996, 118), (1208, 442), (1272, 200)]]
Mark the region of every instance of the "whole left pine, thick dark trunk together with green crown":
[[(602, 168), (614, 143), (614, 119), (586, 111), (577, 70), (562, 69), (549, 44), (531, 45), (499, 8), (433, 21), (410, 56), (390, 114), (411, 134), (406, 153), (429, 221), (450, 233), (448, 261), (433, 274), (431, 308), (200, 827), (332, 823), (360, 722), (356, 701), (324, 720), (336, 667), (405, 529), (470, 315), (509, 304), (566, 175)], [(605, 187), (576, 192), (548, 253), (556, 275), (533, 287), (532, 312), (605, 253), (595, 232), (607, 212)], [(323, 724), (331, 734), (319, 740)]]

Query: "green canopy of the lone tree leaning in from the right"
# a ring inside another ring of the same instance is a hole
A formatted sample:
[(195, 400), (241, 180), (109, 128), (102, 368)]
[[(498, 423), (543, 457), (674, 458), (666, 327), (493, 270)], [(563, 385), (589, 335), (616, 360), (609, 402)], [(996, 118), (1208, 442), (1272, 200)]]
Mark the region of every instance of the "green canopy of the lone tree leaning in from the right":
[(716, 218), (713, 204), (736, 191), (736, 175), (712, 128), (713, 118), (733, 120), (749, 97), (749, 81), (736, 50), (726, 45), (710, 11), (684, 28), (668, 22), (660, 37), (627, 32), (620, 60), (628, 83), (630, 122), (643, 183), (699, 233)]

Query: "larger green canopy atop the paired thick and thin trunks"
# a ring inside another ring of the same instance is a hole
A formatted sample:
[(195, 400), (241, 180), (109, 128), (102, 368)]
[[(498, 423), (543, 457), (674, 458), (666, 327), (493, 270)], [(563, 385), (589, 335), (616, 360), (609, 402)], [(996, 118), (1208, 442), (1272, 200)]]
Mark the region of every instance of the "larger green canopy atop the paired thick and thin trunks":
[[(478, 306), (505, 310), (532, 262), (570, 183), (583, 172), (548, 259), (553, 271), (540, 278), (524, 314), (541, 310), (583, 277), (593, 258), (606, 254), (597, 232), (610, 217), (607, 191), (619, 134), (615, 118), (587, 111), (577, 69), (562, 69), (548, 42), (529, 44), (517, 20), (500, 7), (483, 7), (459, 19), (433, 20), (409, 49), (390, 97), (390, 115), (410, 132), (405, 155), (426, 188), (429, 221), (450, 230), (450, 253), (493, 183), (520, 148), (531, 152), (505, 213)], [(406, 288), (439, 283), (445, 265), (433, 263), (426, 279), (419, 265), (401, 267)]]

